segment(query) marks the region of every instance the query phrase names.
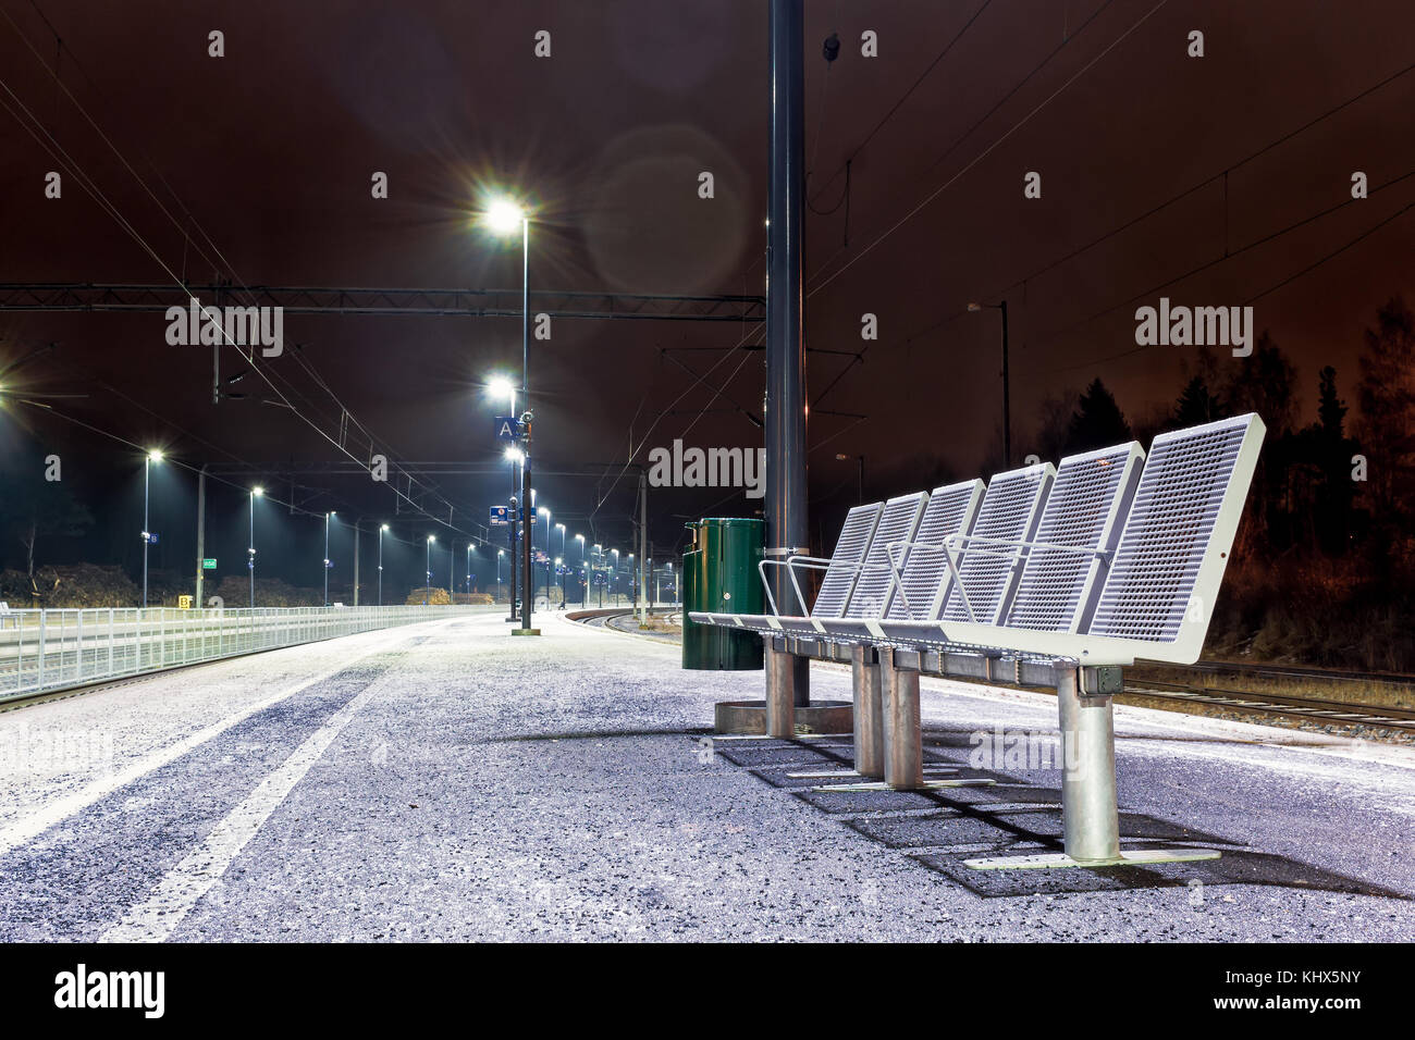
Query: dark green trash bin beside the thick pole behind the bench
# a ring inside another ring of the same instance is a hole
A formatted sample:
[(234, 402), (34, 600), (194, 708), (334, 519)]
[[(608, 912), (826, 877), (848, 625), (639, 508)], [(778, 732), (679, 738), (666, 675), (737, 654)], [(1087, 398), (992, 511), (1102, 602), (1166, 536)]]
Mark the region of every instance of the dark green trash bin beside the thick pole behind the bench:
[(709, 516), (688, 524), (693, 548), (683, 555), (683, 668), (746, 672), (763, 666), (761, 637), (700, 625), (688, 613), (761, 614), (757, 563), (766, 522)]

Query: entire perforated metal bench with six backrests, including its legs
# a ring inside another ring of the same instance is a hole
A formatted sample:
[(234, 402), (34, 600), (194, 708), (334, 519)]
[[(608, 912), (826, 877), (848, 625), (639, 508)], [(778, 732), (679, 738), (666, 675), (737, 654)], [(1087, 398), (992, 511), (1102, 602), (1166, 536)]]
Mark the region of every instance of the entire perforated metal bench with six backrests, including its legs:
[[(920, 674), (1053, 686), (1065, 855), (968, 860), (972, 867), (1215, 857), (1210, 849), (1121, 850), (1111, 696), (1121, 692), (1121, 668), (1136, 659), (1199, 659), (1264, 433), (1247, 415), (1160, 434), (1148, 457), (1131, 443), (1063, 458), (1056, 470), (999, 474), (972, 529), (959, 521), (942, 538), (925, 508), (918, 536), (886, 541), (891, 594), (870, 617), (842, 610), (790, 632), (763, 616), (692, 617), (761, 631), (790, 654), (841, 659), (846, 651), (856, 771), (880, 777), (879, 790), (938, 785), (923, 775)], [(930, 505), (961, 487), (940, 488)], [(856, 579), (877, 541), (842, 562)]]

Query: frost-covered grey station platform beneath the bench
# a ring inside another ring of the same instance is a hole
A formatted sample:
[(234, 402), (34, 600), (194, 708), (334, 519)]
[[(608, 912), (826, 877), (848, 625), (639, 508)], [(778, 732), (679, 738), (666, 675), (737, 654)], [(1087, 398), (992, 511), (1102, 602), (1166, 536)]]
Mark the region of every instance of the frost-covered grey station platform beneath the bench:
[[(0, 940), (1415, 937), (1409, 747), (1116, 706), (1122, 845), (1221, 857), (974, 870), (1060, 848), (1054, 698), (925, 678), (925, 763), (995, 782), (816, 791), (849, 737), (709, 733), (760, 672), (536, 621), (0, 713)], [(814, 664), (812, 693), (849, 699), (848, 669)]]

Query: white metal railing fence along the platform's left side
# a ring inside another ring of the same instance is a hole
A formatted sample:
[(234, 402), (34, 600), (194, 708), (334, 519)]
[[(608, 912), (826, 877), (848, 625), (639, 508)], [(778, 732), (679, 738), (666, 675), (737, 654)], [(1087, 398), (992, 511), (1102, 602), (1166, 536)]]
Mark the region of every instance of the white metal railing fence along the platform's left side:
[(16, 610), (0, 614), (0, 702), (492, 607)]

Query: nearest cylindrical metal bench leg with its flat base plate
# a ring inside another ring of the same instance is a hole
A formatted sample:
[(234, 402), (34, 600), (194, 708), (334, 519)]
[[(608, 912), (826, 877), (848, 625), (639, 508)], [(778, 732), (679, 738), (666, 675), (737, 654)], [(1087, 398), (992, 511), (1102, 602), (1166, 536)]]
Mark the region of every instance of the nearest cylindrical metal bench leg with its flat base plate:
[(975, 870), (1095, 867), (1218, 859), (1215, 849), (1121, 850), (1115, 799), (1115, 716), (1109, 696), (1082, 696), (1078, 669), (1057, 666), (1061, 719), (1061, 833), (1065, 853), (968, 859)]

